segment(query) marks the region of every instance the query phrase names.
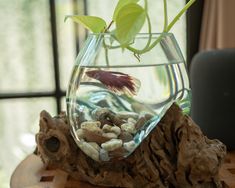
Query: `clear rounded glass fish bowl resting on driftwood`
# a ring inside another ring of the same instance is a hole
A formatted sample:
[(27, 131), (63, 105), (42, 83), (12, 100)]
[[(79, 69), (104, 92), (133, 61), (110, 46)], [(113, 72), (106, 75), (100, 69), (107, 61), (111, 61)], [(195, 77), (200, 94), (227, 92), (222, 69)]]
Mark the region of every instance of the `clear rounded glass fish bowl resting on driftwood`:
[[(136, 55), (111, 34), (90, 34), (76, 59), (67, 90), (67, 114), (78, 147), (95, 161), (129, 156), (157, 126), (172, 103), (188, 113), (185, 61), (171, 33)], [(142, 49), (149, 34), (138, 34)]]

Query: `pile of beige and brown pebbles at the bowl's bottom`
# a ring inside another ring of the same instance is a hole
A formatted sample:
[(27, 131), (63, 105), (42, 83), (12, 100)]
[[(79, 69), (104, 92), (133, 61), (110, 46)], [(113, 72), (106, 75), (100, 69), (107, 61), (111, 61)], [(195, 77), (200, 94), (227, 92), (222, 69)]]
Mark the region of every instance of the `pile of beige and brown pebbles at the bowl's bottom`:
[(134, 136), (152, 117), (148, 113), (114, 113), (108, 108), (98, 108), (92, 112), (93, 120), (80, 121), (77, 144), (95, 161), (121, 159), (137, 147)]

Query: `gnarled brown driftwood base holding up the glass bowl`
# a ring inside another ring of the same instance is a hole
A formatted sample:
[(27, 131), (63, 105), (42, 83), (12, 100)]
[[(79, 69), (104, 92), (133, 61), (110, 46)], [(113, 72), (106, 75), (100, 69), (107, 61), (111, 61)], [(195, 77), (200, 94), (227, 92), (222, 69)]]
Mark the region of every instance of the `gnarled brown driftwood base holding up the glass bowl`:
[[(223, 186), (219, 169), (226, 155), (225, 145), (204, 136), (200, 128), (190, 117), (183, 115), (175, 104), (141, 145), (122, 160), (96, 162), (87, 157), (76, 146), (64, 114), (52, 118), (43, 111), (36, 141), (36, 154), (41, 157), (44, 169), (37, 176), (31, 174), (32, 179), (41, 183), (50, 182), (51, 187), (55, 187), (56, 182), (66, 188), (72, 188), (76, 183), (75, 187), (85, 187), (80, 183), (82, 181), (95, 187)], [(29, 157), (26, 163), (37, 160), (39, 165), (38, 157)], [(35, 169), (31, 169), (32, 172)], [(16, 173), (13, 177), (17, 177)], [(14, 188), (13, 184), (14, 181)], [(56, 186), (59, 188), (59, 185)]]

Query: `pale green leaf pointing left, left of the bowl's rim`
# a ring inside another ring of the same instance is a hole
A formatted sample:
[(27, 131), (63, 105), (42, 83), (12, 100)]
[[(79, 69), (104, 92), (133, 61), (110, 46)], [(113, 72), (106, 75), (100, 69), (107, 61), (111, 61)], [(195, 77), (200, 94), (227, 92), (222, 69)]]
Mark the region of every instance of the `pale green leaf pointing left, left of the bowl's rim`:
[(93, 33), (101, 33), (107, 27), (106, 22), (102, 18), (96, 16), (66, 16), (64, 21), (68, 18), (71, 18), (76, 23), (82, 24)]

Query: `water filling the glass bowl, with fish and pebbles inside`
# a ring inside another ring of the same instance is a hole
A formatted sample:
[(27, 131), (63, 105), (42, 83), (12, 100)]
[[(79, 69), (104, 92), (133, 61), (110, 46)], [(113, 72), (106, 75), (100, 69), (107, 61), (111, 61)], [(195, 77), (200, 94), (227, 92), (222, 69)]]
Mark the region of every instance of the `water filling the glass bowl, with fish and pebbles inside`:
[(185, 77), (184, 62), (75, 66), (67, 110), (77, 145), (96, 161), (127, 157), (173, 102), (189, 112)]

